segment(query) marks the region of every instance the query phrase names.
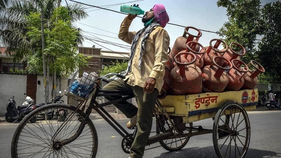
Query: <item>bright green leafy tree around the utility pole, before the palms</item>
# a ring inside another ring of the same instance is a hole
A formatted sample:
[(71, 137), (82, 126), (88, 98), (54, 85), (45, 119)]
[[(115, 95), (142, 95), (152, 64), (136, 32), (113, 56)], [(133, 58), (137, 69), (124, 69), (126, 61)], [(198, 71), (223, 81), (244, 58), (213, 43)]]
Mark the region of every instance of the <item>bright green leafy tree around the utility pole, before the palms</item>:
[[(41, 47), (41, 14), (31, 13), (25, 17), (27, 24), (27, 37), (35, 51), (24, 55), (28, 63), (28, 71), (31, 73), (42, 73), (42, 47)], [(54, 10), (49, 20), (49, 28), (44, 32), (44, 52), (51, 58), (49, 60), (50, 71), (56, 70), (57, 74), (64, 74), (75, 71), (79, 66), (86, 66), (87, 61), (83, 54), (76, 53), (77, 43), (75, 40), (79, 32), (72, 28), (71, 17), (65, 7)]]

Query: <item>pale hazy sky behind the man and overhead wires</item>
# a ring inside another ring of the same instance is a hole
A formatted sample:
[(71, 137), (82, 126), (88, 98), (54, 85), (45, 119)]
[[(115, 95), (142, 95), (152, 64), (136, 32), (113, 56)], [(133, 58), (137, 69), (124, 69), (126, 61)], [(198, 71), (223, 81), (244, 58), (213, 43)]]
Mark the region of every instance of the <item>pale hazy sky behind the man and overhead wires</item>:
[[(102, 0), (102, 1), (101, 0), (76, 0), (76, 1), (80, 1), (95, 6), (104, 6), (104, 5), (111, 5), (111, 4), (126, 3), (133, 0)], [(271, 1), (272, 0), (261, 0), (261, 5), (264, 5)], [(74, 3), (74, 2), (68, 1), (68, 4), (69, 3)], [(218, 31), (222, 27), (222, 25), (227, 21), (226, 9), (223, 7), (217, 7), (216, 0), (158, 0), (158, 1), (143, 0), (133, 3), (127, 3), (126, 5), (132, 5), (135, 3), (139, 4), (139, 7), (144, 11), (150, 10), (154, 6), (154, 4), (157, 3), (164, 4), (166, 11), (169, 15), (169, 19), (170, 19), (169, 23), (174, 23), (183, 26), (193, 26), (198, 29), (209, 30), (213, 32)], [(65, 1), (62, 0), (62, 5), (65, 4), (66, 4)], [(107, 40), (110, 42), (115, 42), (115, 43), (130, 46), (130, 44), (118, 39), (118, 35), (116, 35), (118, 34), (121, 22), (124, 20), (126, 15), (115, 13), (112, 11), (107, 11), (104, 9), (96, 10), (98, 8), (92, 8), (92, 7), (89, 8), (90, 6), (85, 6), (85, 7), (88, 8), (87, 11), (89, 17), (76, 23), (77, 27), (81, 28), (83, 31), (110, 36), (110, 37), (105, 37), (101, 35), (95, 35), (96, 37), (101, 38), (102, 40)], [(109, 7), (108, 9), (120, 11), (120, 5), (112, 6)], [(95, 28), (92, 28), (90, 26)], [(102, 30), (99, 30), (97, 28)], [(141, 22), (141, 18), (137, 17), (133, 20), (129, 28), (129, 31), (138, 31), (142, 28), (143, 28), (143, 23)], [(182, 34), (184, 33), (183, 27), (170, 25), (170, 24), (166, 25), (165, 30), (167, 30), (170, 37), (170, 47), (173, 46), (177, 37), (182, 36)], [(191, 31), (191, 33), (196, 33), (196, 32)], [(88, 33), (83, 33), (83, 35), (93, 37), (93, 34), (90, 35)], [(216, 33), (202, 31), (202, 36), (200, 37), (198, 42), (201, 43), (203, 46), (208, 46), (210, 40), (214, 38), (220, 38), (220, 36), (217, 35)], [(100, 44), (103, 47), (97, 44)], [(102, 50), (110, 49), (112, 51), (129, 52), (129, 50), (117, 46), (113, 46), (110, 44), (104, 44), (101, 42), (97, 42), (97, 44), (94, 44), (89, 40), (85, 40), (83, 47), (92, 47), (92, 45), (95, 45), (96, 48), (102, 48)], [(104, 47), (106, 47), (107, 49), (105, 49)]]

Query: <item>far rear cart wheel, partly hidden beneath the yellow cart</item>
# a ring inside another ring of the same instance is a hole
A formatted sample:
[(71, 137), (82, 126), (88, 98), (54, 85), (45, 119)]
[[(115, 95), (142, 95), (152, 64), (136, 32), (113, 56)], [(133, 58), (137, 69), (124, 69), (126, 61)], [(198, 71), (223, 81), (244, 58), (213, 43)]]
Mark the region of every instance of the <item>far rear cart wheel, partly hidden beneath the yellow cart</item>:
[[(188, 125), (187, 127), (192, 127), (192, 123), (189, 123), (187, 125)], [(169, 126), (172, 126), (172, 125), (165, 121), (164, 128), (166, 130), (169, 130)], [(173, 130), (172, 132), (175, 134), (176, 130)], [(191, 130), (184, 131), (184, 133), (191, 133), (191, 132), (192, 132)], [(161, 131), (156, 123), (156, 134), (160, 134), (160, 133), (161, 133)], [(190, 137), (173, 138), (173, 139), (161, 140), (161, 141), (159, 141), (159, 143), (164, 149), (166, 149), (170, 152), (173, 152), (173, 151), (181, 150), (187, 144), (187, 142), (189, 141), (189, 138)]]

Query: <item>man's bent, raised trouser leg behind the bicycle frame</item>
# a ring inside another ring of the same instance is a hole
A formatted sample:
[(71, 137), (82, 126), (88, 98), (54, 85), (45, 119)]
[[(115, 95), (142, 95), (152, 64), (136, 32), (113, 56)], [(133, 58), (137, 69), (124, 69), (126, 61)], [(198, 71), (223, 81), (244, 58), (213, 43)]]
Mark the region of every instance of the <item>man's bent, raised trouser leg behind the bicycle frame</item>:
[[(131, 86), (127, 83), (124, 83), (124, 80), (116, 80), (108, 83), (103, 87), (105, 90), (122, 90), (126, 92), (132, 92)], [(116, 100), (122, 98), (121, 96), (107, 96), (105, 97), (108, 100)], [(127, 102), (126, 100), (122, 102), (115, 103), (114, 106), (119, 109), (127, 118), (132, 118), (138, 112), (138, 108), (135, 107), (132, 103)]]

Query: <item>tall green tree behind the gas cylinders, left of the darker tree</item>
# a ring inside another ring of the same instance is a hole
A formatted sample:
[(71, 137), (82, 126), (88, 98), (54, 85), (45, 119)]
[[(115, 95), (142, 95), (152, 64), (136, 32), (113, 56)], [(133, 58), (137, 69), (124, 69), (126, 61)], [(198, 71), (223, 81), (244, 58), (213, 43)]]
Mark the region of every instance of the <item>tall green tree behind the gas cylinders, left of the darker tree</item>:
[(248, 63), (256, 52), (256, 35), (262, 35), (264, 23), (261, 17), (259, 0), (218, 0), (218, 7), (225, 7), (228, 21), (219, 30), (219, 34), (228, 45), (237, 42), (246, 49), (241, 59)]

